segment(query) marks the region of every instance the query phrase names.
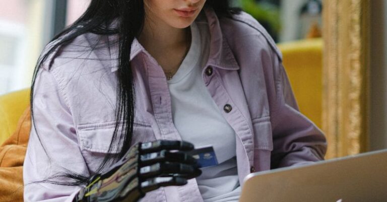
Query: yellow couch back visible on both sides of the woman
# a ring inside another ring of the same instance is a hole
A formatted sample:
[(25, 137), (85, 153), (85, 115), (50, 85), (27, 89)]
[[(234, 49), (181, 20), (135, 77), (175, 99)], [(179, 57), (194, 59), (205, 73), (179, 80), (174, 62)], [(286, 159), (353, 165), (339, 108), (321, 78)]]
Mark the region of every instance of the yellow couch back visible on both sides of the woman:
[[(321, 126), (322, 40), (308, 39), (278, 44), (294, 94), (303, 114)], [(29, 89), (0, 96), (0, 145), (15, 131), (29, 106)]]

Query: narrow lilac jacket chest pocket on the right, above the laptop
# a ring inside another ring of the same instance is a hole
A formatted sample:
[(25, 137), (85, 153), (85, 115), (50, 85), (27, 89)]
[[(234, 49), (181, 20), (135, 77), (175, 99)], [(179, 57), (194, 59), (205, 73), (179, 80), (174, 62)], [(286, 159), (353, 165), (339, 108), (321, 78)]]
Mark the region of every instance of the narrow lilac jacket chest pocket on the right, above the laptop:
[(273, 133), (270, 116), (252, 120), (254, 132), (254, 170), (270, 169), (271, 152), (273, 151)]

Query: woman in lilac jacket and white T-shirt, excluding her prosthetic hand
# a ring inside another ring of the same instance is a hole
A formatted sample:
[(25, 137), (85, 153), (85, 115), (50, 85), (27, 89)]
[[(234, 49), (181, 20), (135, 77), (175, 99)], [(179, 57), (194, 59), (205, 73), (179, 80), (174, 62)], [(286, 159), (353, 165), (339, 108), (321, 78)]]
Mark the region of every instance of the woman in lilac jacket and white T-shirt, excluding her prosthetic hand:
[(324, 159), (273, 40), (225, 0), (92, 0), (46, 50), (25, 201), (72, 201), (139, 142), (212, 145), (219, 162), (142, 201), (237, 201), (250, 172)]

